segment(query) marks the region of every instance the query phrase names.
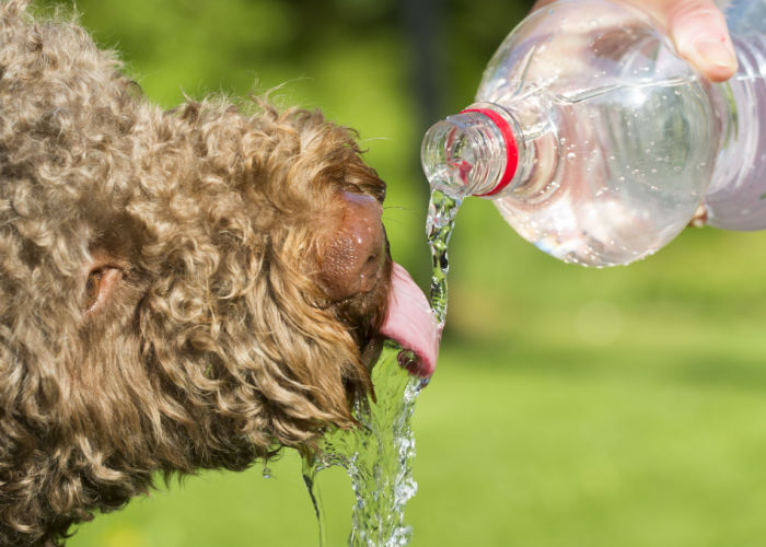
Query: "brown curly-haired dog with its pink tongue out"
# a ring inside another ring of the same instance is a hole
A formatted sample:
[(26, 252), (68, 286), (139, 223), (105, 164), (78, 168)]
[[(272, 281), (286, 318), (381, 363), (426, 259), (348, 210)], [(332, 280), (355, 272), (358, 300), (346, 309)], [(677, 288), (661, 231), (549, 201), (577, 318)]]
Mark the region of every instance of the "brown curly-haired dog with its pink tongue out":
[(60, 545), (156, 472), (352, 427), (383, 335), (433, 369), (352, 131), (264, 102), (162, 112), (120, 69), (76, 21), (0, 3), (3, 546)]

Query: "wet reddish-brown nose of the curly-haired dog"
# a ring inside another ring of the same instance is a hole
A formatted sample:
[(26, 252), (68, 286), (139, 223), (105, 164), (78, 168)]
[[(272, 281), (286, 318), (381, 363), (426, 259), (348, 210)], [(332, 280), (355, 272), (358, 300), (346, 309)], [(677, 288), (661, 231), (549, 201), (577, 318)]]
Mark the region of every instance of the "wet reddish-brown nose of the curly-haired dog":
[(341, 193), (340, 199), (340, 225), (320, 257), (322, 284), (333, 300), (374, 289), (387, 258), (383, 208), (378, 200), (350, 191)]

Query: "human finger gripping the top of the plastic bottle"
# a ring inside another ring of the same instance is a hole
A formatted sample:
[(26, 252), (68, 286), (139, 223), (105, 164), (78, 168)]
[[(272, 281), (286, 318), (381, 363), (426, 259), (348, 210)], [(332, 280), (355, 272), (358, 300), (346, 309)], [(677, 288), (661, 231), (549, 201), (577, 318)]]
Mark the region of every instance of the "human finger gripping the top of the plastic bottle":
[[(534, 9), (552, 3), (541, 0)], [(723, 13), (712, 0), (614, 0), (635, 5), (660, 22), (678, 54), (706, 78), (722, 82), (736, 72), (736, 56)]]

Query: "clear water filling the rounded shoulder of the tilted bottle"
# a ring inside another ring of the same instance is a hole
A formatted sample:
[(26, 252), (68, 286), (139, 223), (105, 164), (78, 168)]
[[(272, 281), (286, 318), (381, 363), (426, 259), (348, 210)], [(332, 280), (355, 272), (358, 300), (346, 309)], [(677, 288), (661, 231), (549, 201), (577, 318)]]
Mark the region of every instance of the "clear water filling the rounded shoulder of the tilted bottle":
[(549, 126), (527, 142), (532, 184), (498, 209), (564, 261), (611, 266), (654, 253), (685, 228), (709, 179), (703, 93), (677, 79), (549, 95)]

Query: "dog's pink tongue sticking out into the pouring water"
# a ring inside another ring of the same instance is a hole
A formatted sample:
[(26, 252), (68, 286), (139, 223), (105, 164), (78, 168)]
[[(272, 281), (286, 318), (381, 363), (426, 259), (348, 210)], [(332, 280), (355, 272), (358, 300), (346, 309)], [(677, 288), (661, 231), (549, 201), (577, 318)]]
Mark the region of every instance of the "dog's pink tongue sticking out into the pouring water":
[(408, 366), (421, 377), (429, 377), (437, 368), (440, 334), (437, 322), (420, 288), (407, 270), (394, 263), (388, 293), (388, 313), (381, 334), (413, 350), (418, 362)]

